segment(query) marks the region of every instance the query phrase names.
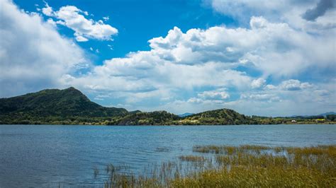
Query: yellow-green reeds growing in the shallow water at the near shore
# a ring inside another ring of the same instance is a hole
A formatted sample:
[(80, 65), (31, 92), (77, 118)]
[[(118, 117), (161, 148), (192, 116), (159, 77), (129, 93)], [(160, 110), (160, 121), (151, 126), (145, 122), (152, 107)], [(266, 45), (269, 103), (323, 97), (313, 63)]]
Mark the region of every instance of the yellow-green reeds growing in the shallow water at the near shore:
[(208, 154), (182, 155), (136, 175), (110, 165), (105, 187), (336, 187), (336, 145), (194, 146), (193, 151)]

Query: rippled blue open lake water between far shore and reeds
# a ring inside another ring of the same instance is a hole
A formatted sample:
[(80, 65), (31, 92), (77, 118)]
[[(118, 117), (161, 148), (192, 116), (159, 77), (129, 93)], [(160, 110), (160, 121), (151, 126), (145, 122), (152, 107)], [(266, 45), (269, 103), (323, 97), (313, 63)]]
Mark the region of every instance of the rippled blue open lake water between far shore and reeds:
[(142, 170), (208, 144), (336, 144), (336, 125), (0, 125), (0, 187), (102, 184), (94, 168), (112, 163)]

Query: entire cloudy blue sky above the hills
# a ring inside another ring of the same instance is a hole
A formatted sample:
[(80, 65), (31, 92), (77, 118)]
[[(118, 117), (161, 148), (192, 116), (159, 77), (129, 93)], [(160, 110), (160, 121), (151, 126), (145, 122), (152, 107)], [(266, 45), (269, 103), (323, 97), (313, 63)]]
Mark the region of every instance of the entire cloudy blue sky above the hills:
[(336, 111), (336, 0), (0, 0), (0, 98), (73, 86), (175, 114)]

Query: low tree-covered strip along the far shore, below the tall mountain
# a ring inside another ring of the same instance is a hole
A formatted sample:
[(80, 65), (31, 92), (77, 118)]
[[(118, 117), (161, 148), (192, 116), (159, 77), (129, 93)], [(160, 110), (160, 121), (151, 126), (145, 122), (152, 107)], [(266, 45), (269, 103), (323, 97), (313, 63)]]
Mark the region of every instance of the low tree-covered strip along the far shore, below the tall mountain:
[(211, 110), (186, 117), (166, 111), (128, 112), (123, 116), (35, 116), (33, 114), (0, 114), (0, 124), (94, 124), (94, 125), (231, 125), (231, 124), (335, 124), (336, 115), (327, 117), (258, 117), (234, 110)]

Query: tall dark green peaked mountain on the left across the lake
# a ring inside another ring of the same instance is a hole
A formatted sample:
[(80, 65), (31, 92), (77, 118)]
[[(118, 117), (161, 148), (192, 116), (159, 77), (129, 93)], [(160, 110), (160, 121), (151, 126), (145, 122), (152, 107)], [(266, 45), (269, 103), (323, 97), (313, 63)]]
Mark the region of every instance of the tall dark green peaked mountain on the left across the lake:
[(23, 120), (55, 122), (65, 119), (116, 117), (128, 114), (123, 108), (102, 107), (75, 88), (47, 89), (13, 98), (0, 99), (0, 123)]

